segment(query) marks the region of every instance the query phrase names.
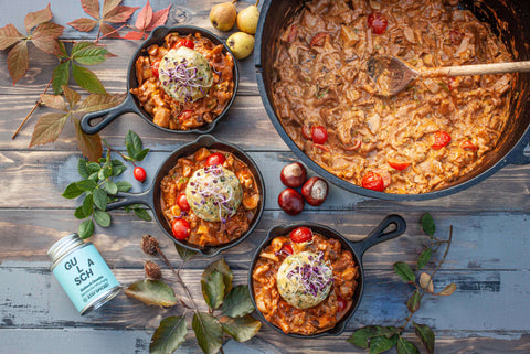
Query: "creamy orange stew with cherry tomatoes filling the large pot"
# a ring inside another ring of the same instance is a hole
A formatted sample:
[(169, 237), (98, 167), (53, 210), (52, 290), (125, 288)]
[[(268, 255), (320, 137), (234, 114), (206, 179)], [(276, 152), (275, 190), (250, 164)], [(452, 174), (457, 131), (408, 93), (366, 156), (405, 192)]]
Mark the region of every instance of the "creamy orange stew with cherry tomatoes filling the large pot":
[(417, 79), (386, 98), (367, 73), (377, 54), (415, 69), (512, 61), (471, 12), (442, 0), (306, 2), (275, 44), (272, 90), (297, 146), (386, 193), (444, 189), (476, 169), (507, 125), (512, 74)]

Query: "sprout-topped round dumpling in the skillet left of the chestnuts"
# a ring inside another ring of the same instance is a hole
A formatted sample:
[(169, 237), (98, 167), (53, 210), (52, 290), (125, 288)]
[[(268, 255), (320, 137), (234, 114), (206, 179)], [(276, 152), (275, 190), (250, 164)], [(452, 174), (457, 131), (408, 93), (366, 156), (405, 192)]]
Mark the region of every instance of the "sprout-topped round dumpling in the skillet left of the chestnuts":
[(197, 170), (186, 187), (190, 207), (206, 222), (226, 222), (235, 215), (243, 189), (234, 172), (220, 164)]

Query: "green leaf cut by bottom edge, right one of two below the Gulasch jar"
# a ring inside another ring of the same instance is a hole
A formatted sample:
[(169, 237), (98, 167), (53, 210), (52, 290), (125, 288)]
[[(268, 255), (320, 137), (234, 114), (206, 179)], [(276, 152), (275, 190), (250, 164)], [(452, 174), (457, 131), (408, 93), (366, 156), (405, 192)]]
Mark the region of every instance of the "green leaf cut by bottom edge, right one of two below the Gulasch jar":
[(205, 354), (215, 354), (223, 344), (223, 329), (210, 313), (195, 312), (191, 322), (197, 343)]

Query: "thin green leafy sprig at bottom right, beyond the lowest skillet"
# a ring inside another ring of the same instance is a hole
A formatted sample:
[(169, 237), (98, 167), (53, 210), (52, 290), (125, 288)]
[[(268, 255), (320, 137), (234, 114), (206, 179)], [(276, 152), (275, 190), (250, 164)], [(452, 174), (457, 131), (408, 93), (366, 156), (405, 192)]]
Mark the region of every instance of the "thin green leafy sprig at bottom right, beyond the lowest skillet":
[[(398, 354), (420, 354), (416, 345), (403, 337), (403, 333), (410, 322), (412, 322), (414, 326), (414, 333), (420, 339), (427, 353), (434, 353), (435, 334), (433, 330), (426, 324), (412, 321), (412, 317), (417, 310), (420, 310), (422, 299), (425, 294), (451, 296), (456, 290), (456, 285), (452, 282), (442, 291), (435, 293), (433, 283), (434, 276), (444, 264), (449, 251), (453, 239), (453, 226), (449, 227), (448, 238), (441, 239), (434, 236), (436, 226), (431, 214), (425, 213), (421, 219), (421, 224), (423, 232), (428, 236), (430, 240), (416, 260), (416, 272), (414, 272), (411, 266), (403, 261), (398, 261), (394, 264), (395, 273), (400, 276), (403, 281), (415, 288), (414, 292), (406, 301), (409, 315), (406, 319), (404, 319), (403, 324), (401, 326), (367, 325), (356, 330), (348, 339), (348, 342), (351, 344), (369, 350), (370, 354), (385, 352), (394, 346), (396, 346)], [(421, 271), (431, 261), (433, 255), (435, 255), (442, 246), (445, 246), (445, 251), (442, 259), (436, 264), (434, 270), (431, 273), (427, 271)], [(418, 273), (418, 276), (416, 276), (416, 273)]]

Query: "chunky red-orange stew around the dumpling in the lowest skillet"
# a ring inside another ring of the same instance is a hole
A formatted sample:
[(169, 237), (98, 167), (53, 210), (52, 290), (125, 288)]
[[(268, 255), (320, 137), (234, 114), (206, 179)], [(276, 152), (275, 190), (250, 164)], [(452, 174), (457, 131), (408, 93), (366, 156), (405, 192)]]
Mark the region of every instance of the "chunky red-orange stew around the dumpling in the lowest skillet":
[[(301, 251), (322, 253), (333, 278), (328, 297), (309, 309), (297, 309), (278, 292), (276, 275), (282, 262)], [(288, 236), (274, 238), (259, 254), (252, 272), (254, 299), (259, 312), (285, 333), (310, 335), (332, 329), (353, 305), (359, 267), (339, 240), (315, 234), (310, 243), (293, 243)]]

